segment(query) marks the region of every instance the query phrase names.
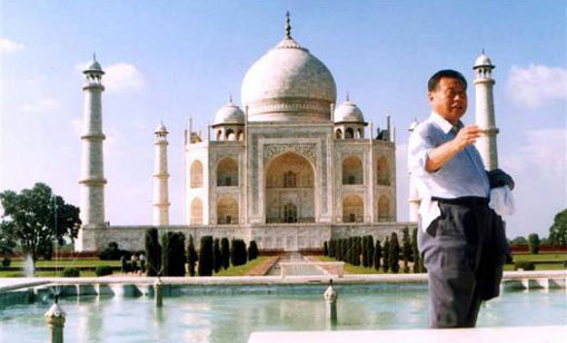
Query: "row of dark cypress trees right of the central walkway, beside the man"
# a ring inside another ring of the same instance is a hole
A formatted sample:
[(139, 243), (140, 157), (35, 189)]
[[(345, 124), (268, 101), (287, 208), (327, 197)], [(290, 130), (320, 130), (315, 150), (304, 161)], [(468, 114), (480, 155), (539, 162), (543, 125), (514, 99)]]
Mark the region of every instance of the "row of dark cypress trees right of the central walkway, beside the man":
[(325, 242), (324, 255), (355, 266), (381, 270), (384, 273), (398, 273), (401, 259), (404, 273), (409, 273), (409, 262), (414, 263), (414, 273), (424, 273), (424, 263), (417, 248), (417, 228), (414, 228), (411, 237), (407, 227), (401, 233), (401, 244), (397, 233), (386, 237), (384, 245), (378, 239), (375, 243), (371, 235), (331, 239)]

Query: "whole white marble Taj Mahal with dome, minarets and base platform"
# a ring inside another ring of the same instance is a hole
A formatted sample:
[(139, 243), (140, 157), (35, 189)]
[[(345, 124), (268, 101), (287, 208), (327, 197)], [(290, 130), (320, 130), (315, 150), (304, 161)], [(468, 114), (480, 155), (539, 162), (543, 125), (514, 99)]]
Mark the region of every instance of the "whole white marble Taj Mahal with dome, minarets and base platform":
[[(494, 66), (483, 53), (475, 68), (476, 76), (486, 79), (490, 75), (485, 70)], [(169, 223), (168, 130), (162, 124), (155, 131), (153, 208), (147, 209), (153, 212), (153, 223), (106, 222), (105, 71), (93, 59), (83, 74), (79, 252), (100, 251), (109, 242), (142, 249), (149, 227), (182, 232), (195, 239), (212, 235), (256, 241), (260, 251), (295, 252), (321, 249), (331, 238), (384, 239), (416, 226), (419, 197), (412, 187), (410, 222), (399, 223), (396, 217), (396, 130), (390, 118), (375, 130), (348, 95), (338, 104), (331, 72), (294, 40), (289, 17), (284, 39), (243, 77), (241, 105), (230, 99), (205, 134), (189, 121), (183, 140), (185, 225)], [(493, 118), (481, 119), (488, 140), (479, 144), (496, 153), (490, 143), (497, 134), (493, 84), (475, 81), (475, 87), (477, 110), (479, 101), (486, 105), (480, 106), (480, 117)]]

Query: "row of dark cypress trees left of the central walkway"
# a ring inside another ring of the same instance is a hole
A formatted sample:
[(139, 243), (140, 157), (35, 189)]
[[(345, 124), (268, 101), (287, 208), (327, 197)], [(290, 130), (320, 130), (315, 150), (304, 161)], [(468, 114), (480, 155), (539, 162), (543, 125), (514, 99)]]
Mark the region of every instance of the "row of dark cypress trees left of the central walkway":
[(182, 233), (168, 232), (158, 241), (158, 229), (152, 227), (146, 232), (146, 256), (148, 276), (185, 276), (186, 264), (190, 276), (211, 276), (230, 265), (239, 266), (258, 257), (258, 246), (255, 241), (246, 247), (242, 239), (201, 237), (197, 251), (193, 237), (190, 235), (187, 248)]

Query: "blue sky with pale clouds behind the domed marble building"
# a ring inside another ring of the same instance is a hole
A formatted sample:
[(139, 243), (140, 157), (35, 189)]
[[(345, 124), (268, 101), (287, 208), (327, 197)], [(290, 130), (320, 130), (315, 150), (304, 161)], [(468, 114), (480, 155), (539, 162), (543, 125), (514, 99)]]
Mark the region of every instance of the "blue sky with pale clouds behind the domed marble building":
[[(471, 84), (496, 65), (500, 167), (517, 183), (508, 236), (547, 235), (567, 207), (566, 1), (1, 1), (0, 190), (49, 184), (79, 204), (80, 67), (107, 70), (103, 126), (111, 224), (151, 223), (153, 128), (170, 130), (171, 222), (183, 224), (182, 133), (205, 131), (248, 68), (284, 36), (332, 72), (367, 120), (397, 127), (398, 219), (407, 210), (407, 127), (429, 112), (426, 82), (452, 68)], [(466, 122), (474, 121), (469, 88)]]

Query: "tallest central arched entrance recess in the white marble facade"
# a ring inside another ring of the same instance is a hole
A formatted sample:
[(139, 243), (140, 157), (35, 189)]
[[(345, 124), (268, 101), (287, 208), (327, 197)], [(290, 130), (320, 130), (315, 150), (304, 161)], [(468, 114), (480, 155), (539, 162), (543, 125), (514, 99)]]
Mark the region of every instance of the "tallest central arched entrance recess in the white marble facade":
[(266, 169), (266, 223), (314, 222), (314, 167), (296, 153), (273, 158)]

